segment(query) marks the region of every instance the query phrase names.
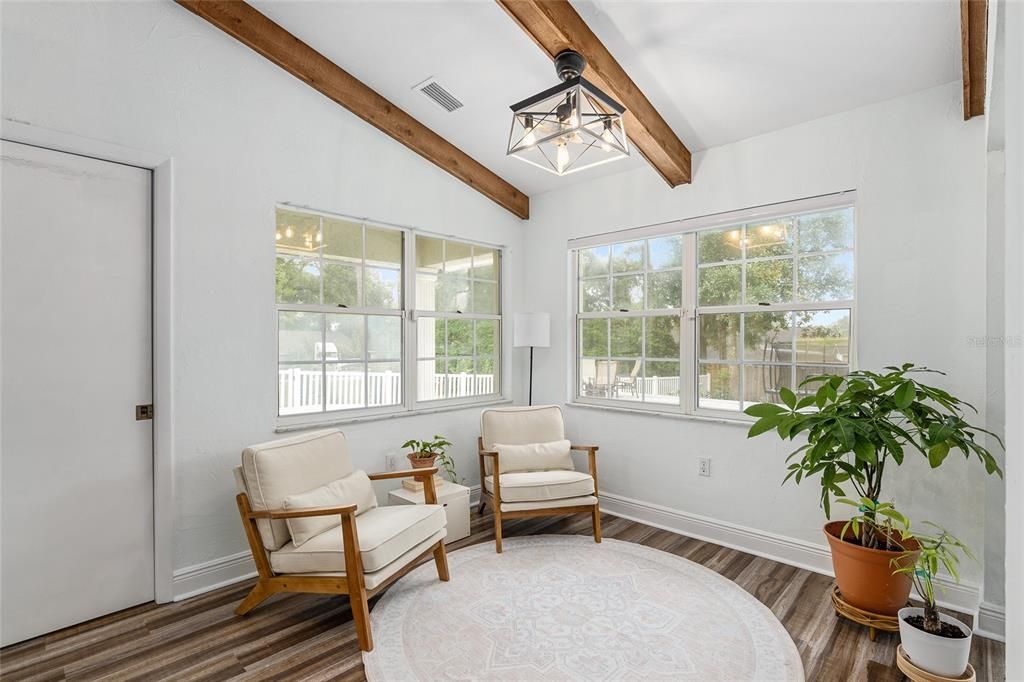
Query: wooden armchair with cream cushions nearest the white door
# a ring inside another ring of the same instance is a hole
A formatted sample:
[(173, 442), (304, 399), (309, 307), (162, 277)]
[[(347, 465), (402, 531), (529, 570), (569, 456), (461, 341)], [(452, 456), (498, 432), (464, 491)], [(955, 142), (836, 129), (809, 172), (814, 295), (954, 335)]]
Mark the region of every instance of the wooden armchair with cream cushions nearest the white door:
[[(279, 592), (345, 594), (359, 648), (373, 650), (370, 598), (431, 553), (437, 578), (449, 580), (446, 519), (437, 505), (436, 472), (435, 467), (370, 475), (353, 471), (345, 436), (336, 430), (247, 447), (242, 466), (234, 469), (236, 501), (259, 577), (234, 612), (244, 615)], [(426, 504), (378, 507), (369, 480), (400, 477), (423, 481)], [(310, 494), (313, 499), (317, 494), (330, 497), (342, 481), (347, 485), (343, 489), (357, 491), (357, 502), (292, 506), (296, 498), (309, 499)], [(321, 493), (324, 488), (330, 489)], [(325, 518), (331, 516), (338, 517), (337, 524)], [(328, 527), (312, 537), (303, 532), (293, 538), (289, 521), (297, 519), (324, 519)]]

